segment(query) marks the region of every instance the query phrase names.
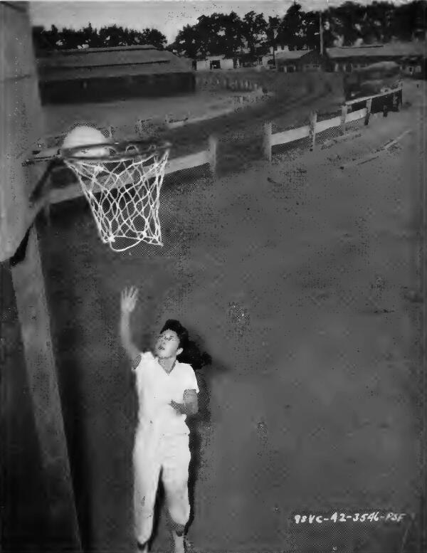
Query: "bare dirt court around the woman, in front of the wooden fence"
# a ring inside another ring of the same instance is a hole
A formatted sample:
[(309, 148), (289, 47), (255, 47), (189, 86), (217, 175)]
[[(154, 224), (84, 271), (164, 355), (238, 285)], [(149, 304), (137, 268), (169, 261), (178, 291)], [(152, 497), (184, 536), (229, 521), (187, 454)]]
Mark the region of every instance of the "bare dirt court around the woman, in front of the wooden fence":
[[(134, 545), (137, 404), (118, 319), (136, 285), (141, 347), (176, 317), (212, 359), (197, 373), (190, 551), (401, 551), (421, 493), (420, 132), (414, 104), (328, 149), (169, 181), (163, 248), (112, 253), (83, 199), (53, 207), (39, 230), (87, 550)], [(293, 518), (334, 511), (406, 516)], [(163, 513), (153, 550), (169, 547)]]

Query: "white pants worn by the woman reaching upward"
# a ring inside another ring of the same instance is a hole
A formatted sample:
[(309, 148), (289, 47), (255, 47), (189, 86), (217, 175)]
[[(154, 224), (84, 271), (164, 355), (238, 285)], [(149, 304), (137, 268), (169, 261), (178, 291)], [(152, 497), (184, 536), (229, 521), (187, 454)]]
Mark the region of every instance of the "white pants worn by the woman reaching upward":
[(166, 492), (169, 515), (185, 526), (190, 516), (188, 434), (158, 435), (152, 425), (138, 428), (133, 453), (135, 535), (144, 544), (152, 534), (159, 475)]

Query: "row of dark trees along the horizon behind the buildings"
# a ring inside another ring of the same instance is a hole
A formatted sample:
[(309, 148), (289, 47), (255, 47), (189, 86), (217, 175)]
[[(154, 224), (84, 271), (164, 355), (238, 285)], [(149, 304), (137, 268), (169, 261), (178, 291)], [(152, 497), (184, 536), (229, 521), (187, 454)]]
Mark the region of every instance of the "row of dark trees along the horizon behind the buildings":
[(105, 48), (151, 44), (189, 58), (225, 54), (233, 57), (247, 48), (248, 56), (256, 56), (273, 48), (287, 46), (290, 50), (320, 49), (320, 34), (325, 48), (357, 44), (386, 43), (393, 39), (410, 41), (425, 36), (427, 0), (413, 0), (395, 5), (390, 1), (374, 1), (362, 6), (346, 1), (340, 6), (319, 11), (303, 11), (300, 4), (290, 6), (283, 17), (248, 11), (243, 17), (236, 12), (202, 15), (194, 25), (186, 25), (175, 40), (155, 28), (135, 31), (121, 26), (99, 30), (88, 26), (78, 31), (56, 26), (46, 30), (33, 28), (33, 40), (38, 51), (69, 48)]

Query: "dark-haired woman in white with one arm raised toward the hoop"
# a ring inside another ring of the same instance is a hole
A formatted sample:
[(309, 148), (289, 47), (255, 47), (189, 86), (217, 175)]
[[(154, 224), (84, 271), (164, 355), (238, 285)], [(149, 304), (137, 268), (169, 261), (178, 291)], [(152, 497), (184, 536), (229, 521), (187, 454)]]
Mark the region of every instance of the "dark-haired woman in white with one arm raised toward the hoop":
[(199, 409), (199, 386), (191, 365), (176, 360), (188, 341), (188, 332), (179, 321), (165, 323), (153, 352), (140, 352), (132, 342), (130, 315), (137, 295), (136, 288), (123, 290), (120, 317), (122, 347), (132, 362), (139, 401), (133, 453), (137, 548), (148, 553), (154, 501), (162, 475), (175, 553), (184, 553), (184, 529), (190, 515), (191, 458), (186, 417)]

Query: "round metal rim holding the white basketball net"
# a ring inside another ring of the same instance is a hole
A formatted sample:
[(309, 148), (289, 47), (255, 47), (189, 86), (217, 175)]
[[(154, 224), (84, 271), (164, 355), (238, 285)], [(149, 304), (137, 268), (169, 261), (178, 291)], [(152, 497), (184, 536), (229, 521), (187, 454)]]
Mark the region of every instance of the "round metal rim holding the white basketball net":
[[(107, 156), (90, 156), (90, 151), (99, 148), (110, 149)], [(125, 140), (122, 142), (100, 142), (98, 144), (82, 144), (72, 148), (60, 148), (59, 155), (63, 159), (75, 162), (120, 162), (132, 159), (149, 159), (155, 152), (165, 152), (172, 147), (170, 142), (152, 142), (149, 140)], [(88, 152), (87, 155), (78, 155), (82, 150)]]

